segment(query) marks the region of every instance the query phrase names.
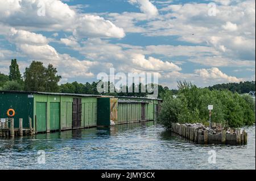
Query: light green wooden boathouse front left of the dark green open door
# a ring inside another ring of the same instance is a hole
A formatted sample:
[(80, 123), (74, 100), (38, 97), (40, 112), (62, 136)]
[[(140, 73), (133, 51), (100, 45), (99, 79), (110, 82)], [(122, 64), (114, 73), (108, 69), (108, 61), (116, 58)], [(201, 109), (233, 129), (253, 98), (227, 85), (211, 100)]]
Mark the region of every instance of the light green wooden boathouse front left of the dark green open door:
[[(36, 116), (36, 132), (63, 131), (72, 129), (73, 98), (82, 100), (81, 128), (97, 126), (97, 98), (76, 97), (69, 95), (35, 95), (34, 111)], [(41, 105), (40, 105), (41, 103)], [(37, 111), (37, 105), (46, 106), (46, 116), (42, 111)], [(46, 120), (44, 119), (46, 117)], [(46, 126), (45, 126), (46, 124)]]

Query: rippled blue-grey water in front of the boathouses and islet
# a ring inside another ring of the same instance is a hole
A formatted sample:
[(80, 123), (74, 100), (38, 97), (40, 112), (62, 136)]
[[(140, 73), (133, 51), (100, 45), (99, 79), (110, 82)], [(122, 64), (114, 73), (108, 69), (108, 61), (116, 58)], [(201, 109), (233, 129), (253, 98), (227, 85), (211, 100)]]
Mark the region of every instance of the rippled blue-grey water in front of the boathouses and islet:
[(246, 130), (243, 146), (195, 145), (154, 122), (0, 138), (0, 169), (255, 169), (255, 126)]

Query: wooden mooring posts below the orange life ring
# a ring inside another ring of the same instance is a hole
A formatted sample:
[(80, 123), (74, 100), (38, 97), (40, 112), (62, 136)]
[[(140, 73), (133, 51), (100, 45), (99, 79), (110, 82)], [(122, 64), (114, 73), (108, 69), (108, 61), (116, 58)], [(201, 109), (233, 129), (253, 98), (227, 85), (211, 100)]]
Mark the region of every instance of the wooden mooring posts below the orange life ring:
[[(0, 137), (15, 137), (27, 136), (33, 134), (32, 119), (28, 117), (29, 128), (23, 128), (23, 119), (19, 119), (19, 128), (14, 128), (14, 118), (6, 118), (4, 122), (1, 121)], [(10, 123), (10, 124), (9, 124)]]

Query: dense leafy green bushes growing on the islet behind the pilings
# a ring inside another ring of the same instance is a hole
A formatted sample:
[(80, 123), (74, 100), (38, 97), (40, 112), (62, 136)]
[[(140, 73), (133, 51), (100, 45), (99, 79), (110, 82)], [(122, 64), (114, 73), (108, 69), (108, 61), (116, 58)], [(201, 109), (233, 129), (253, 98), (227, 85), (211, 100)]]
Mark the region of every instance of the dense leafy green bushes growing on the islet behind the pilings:
[(187, 82), (178, 83), (176, 96), (170, 92), (162, 95), (163, 103), (159, 121), (169, 128), (171, 123), (207, 123), (208, 105), (213, 104), (212, 121), (229, 127), (242, 127), (255, 123), (255, 102), (249, 95), (239, 95), (228, 90), (198, 88)]

